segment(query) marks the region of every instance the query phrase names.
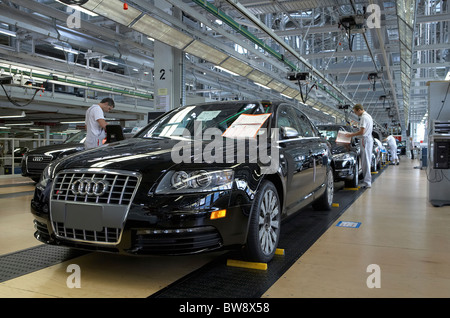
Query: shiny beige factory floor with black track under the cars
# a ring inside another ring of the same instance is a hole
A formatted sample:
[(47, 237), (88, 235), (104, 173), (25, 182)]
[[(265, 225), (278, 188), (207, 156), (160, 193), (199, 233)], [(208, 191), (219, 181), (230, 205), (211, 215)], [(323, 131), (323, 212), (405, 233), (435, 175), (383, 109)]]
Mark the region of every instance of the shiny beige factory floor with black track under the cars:
[[(402, 157), (371, 189), (337, 190), (339, 212), (300, 211), (268, 270), (229, 267), (226, 251), (130, 257), (41, 244), (34, 183), (0, 176), (0, 298), (447, 298), (450, 206), (428, 202), (419, 164)], [(73, 264), (80, 288), (69, 288)]]

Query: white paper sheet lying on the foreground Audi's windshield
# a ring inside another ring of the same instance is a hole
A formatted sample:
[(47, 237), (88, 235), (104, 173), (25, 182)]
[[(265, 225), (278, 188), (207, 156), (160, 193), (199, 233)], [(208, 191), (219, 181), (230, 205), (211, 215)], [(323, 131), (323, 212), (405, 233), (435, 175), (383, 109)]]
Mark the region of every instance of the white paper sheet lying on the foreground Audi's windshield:
[(270, 115), (272, 114), (241, 114), (222, 136), (229, 138), (254, 138)]

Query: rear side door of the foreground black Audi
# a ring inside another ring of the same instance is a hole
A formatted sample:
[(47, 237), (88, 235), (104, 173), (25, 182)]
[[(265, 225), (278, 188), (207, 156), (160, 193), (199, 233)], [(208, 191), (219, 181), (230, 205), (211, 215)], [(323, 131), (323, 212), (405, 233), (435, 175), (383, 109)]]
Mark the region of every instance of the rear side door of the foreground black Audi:
[[(311, 183), (309, 184), (308, 191), (312, 192), (317, 190), (325, 182), (327, 173), (327, 144), (322, 140), (309, 120), (309, 118), (298, 109), (294, 109), (296, 119), (299, 122), (300, 129), (302, 130), (302, 137), (304, 138), (304, 144), (309, 147), (309, 155), (311, 162)], [(308, 142), (306, 142), (308, 140)]]

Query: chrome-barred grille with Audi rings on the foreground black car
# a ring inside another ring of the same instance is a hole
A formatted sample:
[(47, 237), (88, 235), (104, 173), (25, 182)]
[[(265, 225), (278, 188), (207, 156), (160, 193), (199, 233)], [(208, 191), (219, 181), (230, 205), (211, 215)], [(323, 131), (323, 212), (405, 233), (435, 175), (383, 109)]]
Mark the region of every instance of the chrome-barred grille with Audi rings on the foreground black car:
[(50, 198), (56, 236), (85, 243), (119, 243), (139, 181), (139, 174), (121, 170), (58, 173)]

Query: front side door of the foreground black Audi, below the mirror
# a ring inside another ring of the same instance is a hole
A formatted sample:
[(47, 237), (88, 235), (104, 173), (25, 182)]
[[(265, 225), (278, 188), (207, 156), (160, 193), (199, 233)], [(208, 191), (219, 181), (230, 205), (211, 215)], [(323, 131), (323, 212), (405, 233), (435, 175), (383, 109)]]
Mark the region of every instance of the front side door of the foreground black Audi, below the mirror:
[[(276, 127), (280, 129), (280, 147), (287, 163), (286, 211), (296, 212), (301, 202), (310, 194), (313, 182), (310, 140), (303, 138), (303, 131), (292, 106), (280, 105), (277, 109)], [(297, 136), (286, 136), (287, 128), (295, 129)]]

